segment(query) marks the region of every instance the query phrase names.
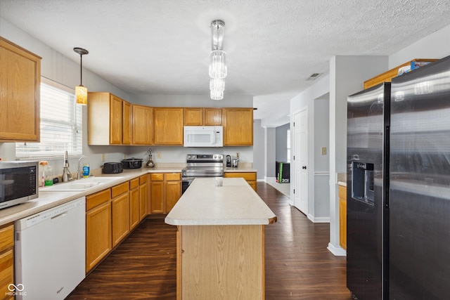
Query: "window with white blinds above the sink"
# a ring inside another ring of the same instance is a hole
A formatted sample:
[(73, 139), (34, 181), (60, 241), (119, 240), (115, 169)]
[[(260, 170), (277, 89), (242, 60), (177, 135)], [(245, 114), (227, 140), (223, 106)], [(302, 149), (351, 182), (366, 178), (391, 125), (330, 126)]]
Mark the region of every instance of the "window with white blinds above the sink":
[(82, 106), (74, 91), (49, 79), (41, 82), (41, 143), (15, 143), (15, 156), (82, 155)]

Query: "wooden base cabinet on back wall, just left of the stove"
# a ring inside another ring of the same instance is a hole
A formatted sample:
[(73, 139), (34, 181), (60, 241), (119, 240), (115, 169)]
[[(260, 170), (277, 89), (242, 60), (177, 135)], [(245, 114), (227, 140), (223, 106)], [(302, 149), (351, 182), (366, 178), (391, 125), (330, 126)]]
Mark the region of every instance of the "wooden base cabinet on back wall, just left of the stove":
[(167, 214), (181, 197), (181, 173), (150, 174), (150, 213)]

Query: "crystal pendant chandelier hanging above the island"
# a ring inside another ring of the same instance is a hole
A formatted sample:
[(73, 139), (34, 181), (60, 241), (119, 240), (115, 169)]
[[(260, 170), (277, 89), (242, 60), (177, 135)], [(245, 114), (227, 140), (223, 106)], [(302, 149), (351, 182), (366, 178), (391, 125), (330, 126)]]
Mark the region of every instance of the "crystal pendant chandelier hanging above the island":
[(210, 53), (210, 91), (212, 100), (224, 98), (226, 77), (226, 52), (223, 50), (225, 22), (211, 22), (212, 51)]

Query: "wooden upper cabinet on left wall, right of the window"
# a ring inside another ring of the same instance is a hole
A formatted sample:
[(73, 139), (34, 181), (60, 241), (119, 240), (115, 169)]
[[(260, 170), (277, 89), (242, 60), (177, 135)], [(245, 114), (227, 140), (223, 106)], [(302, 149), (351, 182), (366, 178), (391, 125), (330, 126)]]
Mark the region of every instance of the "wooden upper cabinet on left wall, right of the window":
[(89, 92), (87, 107), (88, 145), (129, 145), (129, 103), (112, 93)]

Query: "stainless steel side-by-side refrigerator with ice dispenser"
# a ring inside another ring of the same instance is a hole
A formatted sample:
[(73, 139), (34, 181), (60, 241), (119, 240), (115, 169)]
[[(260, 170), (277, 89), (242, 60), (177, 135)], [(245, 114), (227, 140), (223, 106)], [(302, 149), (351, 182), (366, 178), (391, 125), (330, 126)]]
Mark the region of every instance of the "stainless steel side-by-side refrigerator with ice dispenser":
[(349, 96), (347, 287), (450, 297), (450, 58)]

